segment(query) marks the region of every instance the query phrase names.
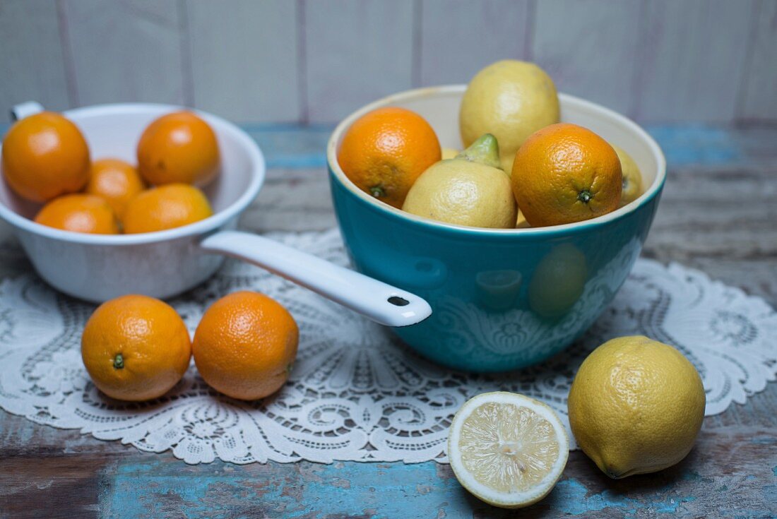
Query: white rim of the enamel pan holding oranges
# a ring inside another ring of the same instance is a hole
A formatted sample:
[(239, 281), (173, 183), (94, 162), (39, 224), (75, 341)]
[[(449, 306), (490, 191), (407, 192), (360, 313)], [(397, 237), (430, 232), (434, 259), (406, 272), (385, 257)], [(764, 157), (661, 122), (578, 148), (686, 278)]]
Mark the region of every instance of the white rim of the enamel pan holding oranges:
[[(0, 218), (23, 231), (30, 232), (34, 235), (44, 236), (49, 239), (59, 240), (61, 242), (83, 243), (97, 246), (134, 246), (146, 243), (165, 242), (190, 235), (201, 235), (210, 232), (221, 227), (221, 225), (225, 225), (231, 218), (240, 214), (256, 198), (256, 195), (262, 188), (266, 174), (266, 165), (262, 150), (259, 145), (256, 144), (256, 141), (250, 138), (245, 131), (242, 131), (236, 124), (222, 117), (190, 108), (189, 106), (163, 103), (108, 103), (65, 110), (62, 114), (65, 117), (73, 115), (89, 117), (92, 115), (104, 116), (107, 112), (113, 114), (131, 113), (138, 109), (155, 110), (160, 113), (187, 110), (197, 113), (204, 117), (204, 119), (214, 121), (218, 124), (219, 130), (230, 134), (231, 137), (242, 146), (249, 157), (252, 166), (252, 176), (246, 191), (242, 193), (237, 200), (232, 202), (232, 204), (229, 204), (221, 211), (218, 211), (218, 213), (215, 213), (208, 218), (204, 218), (203, 220), (195, 221), (188, 225), (182, 225), (181, 227), (166, 229), (165, 231), (143, 232), (131, 235), (95, 235), (47, 227), (46, 225), (38, 224), (29, 218), (25, 218), (21, 214), (17, 214), (2, 203), (0, 203)], [(0, 150), (2, 150), (2, 145), (0, 145)]]

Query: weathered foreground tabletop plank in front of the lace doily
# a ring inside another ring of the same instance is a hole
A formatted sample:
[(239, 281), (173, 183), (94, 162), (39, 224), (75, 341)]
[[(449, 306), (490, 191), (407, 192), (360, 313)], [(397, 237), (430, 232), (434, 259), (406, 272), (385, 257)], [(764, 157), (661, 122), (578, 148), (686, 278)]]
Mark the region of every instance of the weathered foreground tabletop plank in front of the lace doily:
[[(618, 481), (575, 451), (556, 489), (521, 517), (769, 517), (775, 446), (767, 428), (705, 428), (679, 465)], [(45, 517), (515, 517), (434, 462), (183, 465), (118, 449), (39, 460), (0, 458), (4, 514), (40, 517), (28, 497), (37, 496), (50, 506)]]

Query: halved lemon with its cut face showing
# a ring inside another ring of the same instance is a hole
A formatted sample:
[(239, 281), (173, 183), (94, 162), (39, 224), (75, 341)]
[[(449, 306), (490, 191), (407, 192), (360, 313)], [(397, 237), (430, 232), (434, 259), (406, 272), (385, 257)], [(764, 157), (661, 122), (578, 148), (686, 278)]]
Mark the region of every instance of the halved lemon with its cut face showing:
[(528, 396), (483, 393), (453, 417), (448, 459), (458, 482), (495, 507), (536, 503), (556, 485), (569, 457), (556, 413)]

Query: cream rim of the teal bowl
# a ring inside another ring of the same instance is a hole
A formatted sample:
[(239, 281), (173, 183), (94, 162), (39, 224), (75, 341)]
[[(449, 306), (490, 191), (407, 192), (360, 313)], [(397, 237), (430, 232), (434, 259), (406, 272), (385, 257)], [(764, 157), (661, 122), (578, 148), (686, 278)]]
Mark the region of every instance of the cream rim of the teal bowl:
[(362, 106), (359, 110), (356, 110), (354, 113), (351, 113), (348, 117), (340, 121), (340, 124), (337, 125), (332, 135), (329, 137), (329, 143), (326, 146), (326, 160), (329, 163), (329, 169), (334, 172), (334, 176), (336, 177), (336, 179), (347, 190), (349, 190), (350, 193), (353, 193), (357, 197), (361, 198), (361, 200), (368, 202), (368, 204), (371, 204), (373, 207), (377, 208), (378, 210), (388, 212), (389, 214), (393, 214), (399, 218), (404, 218), (406, 220), (413, 221), (416, 224), (439, 228), (441, 230), (456, 231), (456, 232), (464, 231), (464, 232), (476, 233), (479, 235), (555, 234), (556, 232), (559, 232), (559, 231), (567, 231), (567, 230), (572, 231), (580, 228), (587, 228), (595, 225), (605, 224), (608, 221), (613, 221), (618, 218), (622, 218), (626, 214), (630, 214), (636, 211), (639, 207), (642, 207), (644, 204), (646, 204), (648, 200), (651, 200), (654, 196), (656, 196), (656, 194), (661, 190), (661, 187), (664, 185), (664, 181), (666, 180), (666, 176), (667, 176), (667, 161), (666, 161), (666, 158), (664, 158), (664, 152), (661, 151), (661, 148), (658, 145), (658, 143), (655, 140), (653, 140), (652, 137), (650, 137), (650, 134), (648, 134), (645, 130), (643, 130), (643, 128), (640, 127), (639, 124), (636, 124), (633, 120), (629, 119), (628, 117), (625, 117), (624, 115), (618, 112), (615, 112), (615, 110), (610, 110), (605, 106), (601, 106), (597, 103), (592, 103), (591, 101), (587, 101), (585, 99), (581, 99), (576, 96), (571, 96), (570, 94), (565, 94), (562, 92), (559, 92), (559, 99), (563, 99), (564, 103), (576, 105), (578, 109), (589, 110), (591, 112), (604, 115), (605, 117), (618, 120), (618, 122), (620, 122), (621, 124), (624, 124), (626, 127), (629, 127), (629, 129), (631, 129), (636, 134), (638, 134), (639, 137), (646, 142), (646, 144), (648, 145), (648, 148), (650, 148), (650, 152), (652, 152), (653, 154), (653, 158), (655, 158), (656, 160), (657, 172), (656, 172), (655, 179), (653, 179), (653, 183), (650, 185), (650, 188), (646, 190), (644, 193), (642, 193), (641, 195), (639, 195), (639, 197), (636, 198), (636, 200), (632, 200), (631, 202), (629, 202), (629, 204), (626, 204), (623, 207), (619, 207), (618, 209), (616, 209), (615, 211), (612, 211), (611, 213), (603, 214), (596, 218), (591, 218), (590, 220), (577, 221), (571, 224), (550, 225), (546, 227), (536, 227), (536, 228), (509, 228), (509, 229), (469, 227), (466, 225), (448, 224), (443, 221), (430, 220), (429, 218), (416, 216), (416, 214), (411, 214), (406, 211), (402, 211), (401, 209), (397, 209), (396, 207), (392, 207), (389, 204), (385, 204), (384, 202), (381, 202), (380, 200), (375, 199), (375, 197), (371, 197), (370, 195), (368, 195), (368, 193), (364, 193), (364, 191), (360, 190), (354, 183), (350, 181), (350, 179), (348, 179), (348, 177), (345, 175), (345, 172), (343, 172), (343, 169), (340, 168), (340, 164), (337, 162), (337, 143), (338, 141), (340, 141), (340, 135), (343, 134), (343, 132), (345, 132), (346, 129), (350, 127), (350, 125), (353, 124), (355, 120), (363, 116), (365, 113), (371, 112), (372, 110), (375, 110), (377, 108), (381, 108), (382, 106), (389, 106), (392, 103), (398, 103), (406, 99), (414, 99), (418, 97), (425, 97), (425, 96), (430, 96), (432, 94), (440, 94), (440, 93), (446, 94), (446, 93), (464, 92), (466, 88), (467, 88), (467, 85), (458, 84), (458, 85), (429, 86), (429, 87), (423, 87), (420, 89), (410, 89), (402, 92), (397, 92), (390, 96), (382, 97), (381, 99), (378, 99), (373, 103), (369, 103), (368, 105)]

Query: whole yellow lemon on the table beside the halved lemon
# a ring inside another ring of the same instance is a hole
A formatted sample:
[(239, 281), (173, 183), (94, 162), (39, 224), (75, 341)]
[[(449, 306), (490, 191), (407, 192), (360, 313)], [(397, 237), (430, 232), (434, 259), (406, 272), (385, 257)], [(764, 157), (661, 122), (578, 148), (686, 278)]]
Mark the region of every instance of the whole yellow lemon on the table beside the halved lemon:
[(602, 344), (567, 401), (577, 444), (611, 478), (657, 472), (691, 451), (704, 418), (702, 379), (678, 350), (644, 336)]

